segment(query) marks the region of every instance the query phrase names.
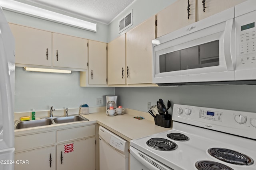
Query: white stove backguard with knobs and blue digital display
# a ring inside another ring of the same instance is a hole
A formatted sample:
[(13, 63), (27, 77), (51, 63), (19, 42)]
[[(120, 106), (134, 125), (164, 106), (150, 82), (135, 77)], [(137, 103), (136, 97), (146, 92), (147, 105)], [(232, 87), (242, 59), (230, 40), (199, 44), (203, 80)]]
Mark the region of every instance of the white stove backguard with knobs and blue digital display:
[(256, 139), (256, 113), (174, 104), (172, 120)]

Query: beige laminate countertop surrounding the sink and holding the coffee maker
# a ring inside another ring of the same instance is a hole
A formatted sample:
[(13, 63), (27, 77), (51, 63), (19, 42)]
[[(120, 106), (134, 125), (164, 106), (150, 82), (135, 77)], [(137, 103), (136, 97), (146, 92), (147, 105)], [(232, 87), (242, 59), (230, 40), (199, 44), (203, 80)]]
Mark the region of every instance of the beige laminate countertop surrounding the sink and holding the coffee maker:
[[(62, 128), (72, 128), (72, 127), (81, 126), (81, 125), (90, 125), (90, 124), (98, 123), (100, 126), (105, 127), (106, 129), (112, 131), (116, 135), (130, 142), (130, 140), (132, 139), (138, 139), (140, 137), (145, 137), (148, 135), (160, 133), (160, 132), (171, 129), (171, 128), (164, 128), (164, 127), (155, 125), (154, 118), (149, 113), (146, 113), (146, 112), (137, 111), (133, 109), (126, 109), (125, 114), (108, 116), (106, 115), (105, 109), (106, 107), (103, 107), (98, 109), (96, 112), (90, 113), (88, 115), (82, 115), (87, 119), (89, 119), (89, 121), (60, 123), (60, 124), (54, 124), (49, 126), (32, 127), (32, 128), (26, 128), (26, 129), (15, 129), (14, 135), (20, 136), (24, 134), (46, 132), (46, 131), (52, 131), (54, 129), (58, 130)], [(59, 115), (62, 115), (63, 112), (64, 112), (63, 110), (59, 110)], [(78, 109), (74, 109), (74, 111), (70, 109), (70, 112), (71, 114), (77, 114)], [(30, 113), (28, 112), (17, 113), (15, 119), (17, 120), (21, 116), (26, 116), (29, 114)], [(47, 114), (48, 114), (48, 111), (42, 111), (42, 113), (38, 111), (36, 115), (39, 118), (37, 119), (40, 119), (40, 117), (46, 117)], [(56, 111), (55, 115), (57, 114), (58, 112)], [(142, 116), (145, 119), (140, 119), (140, 120), (135, 119), (134, 116)]]

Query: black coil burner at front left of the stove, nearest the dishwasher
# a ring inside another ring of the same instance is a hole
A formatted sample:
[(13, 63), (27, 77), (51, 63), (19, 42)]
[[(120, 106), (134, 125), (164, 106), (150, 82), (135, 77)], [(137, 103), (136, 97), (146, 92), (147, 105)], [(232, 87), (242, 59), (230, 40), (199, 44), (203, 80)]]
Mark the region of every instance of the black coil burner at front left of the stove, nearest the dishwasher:
[(151, 138), (147, 141), (147, 145), (153, 149), (163, 151), (174, 150), (178, 147), (176, 143), (164, 138)]

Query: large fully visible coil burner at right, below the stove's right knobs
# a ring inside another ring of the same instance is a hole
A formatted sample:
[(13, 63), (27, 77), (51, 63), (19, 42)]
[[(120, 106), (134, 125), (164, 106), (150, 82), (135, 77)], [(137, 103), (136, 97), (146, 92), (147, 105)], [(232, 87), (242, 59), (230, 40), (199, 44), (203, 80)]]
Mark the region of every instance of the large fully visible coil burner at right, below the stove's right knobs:
[(215, 158), (224, 162), (228, 162), (230, 164), (251, 165), (254, 163), (252, 158), (250, 158), (249, 156), (230, 149), (210, 148), (208, 149), (208, 153), (211, 156), (214, 156)]

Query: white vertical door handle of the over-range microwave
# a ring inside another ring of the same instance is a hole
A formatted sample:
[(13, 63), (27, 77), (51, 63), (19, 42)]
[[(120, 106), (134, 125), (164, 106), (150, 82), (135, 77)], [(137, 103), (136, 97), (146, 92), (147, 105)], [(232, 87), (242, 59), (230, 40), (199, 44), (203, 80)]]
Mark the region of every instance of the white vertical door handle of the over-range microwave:
[(235, 47), (235, 26), (234, 18), (226, 21), (224, 31), (224, 56), (228, 71), (234, 70), (234, 47)]

